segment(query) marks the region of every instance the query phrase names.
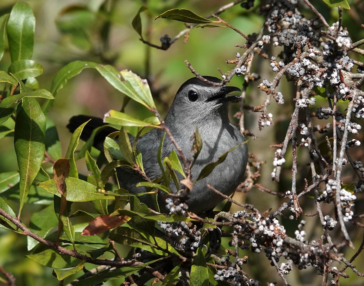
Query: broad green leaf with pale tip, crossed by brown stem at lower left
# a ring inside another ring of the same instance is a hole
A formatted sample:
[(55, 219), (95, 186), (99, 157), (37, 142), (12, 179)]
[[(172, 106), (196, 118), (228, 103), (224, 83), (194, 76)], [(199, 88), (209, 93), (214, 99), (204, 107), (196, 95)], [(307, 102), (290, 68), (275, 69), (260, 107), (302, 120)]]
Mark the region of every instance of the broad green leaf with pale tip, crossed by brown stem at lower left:
[[(45, 220), (44, 218), (47, 219)], [(29, 229), (44, 238), (56, 225), (58, 225), (58, 219), (54, 212), (54, 207), (53, 205), (49, 205), (41, 211), (32, 214), (29, 222)], [(27, 240), (28, 251), (32, 250), (39, 244), (39, 241), (30, 236), (27, 236)]]

